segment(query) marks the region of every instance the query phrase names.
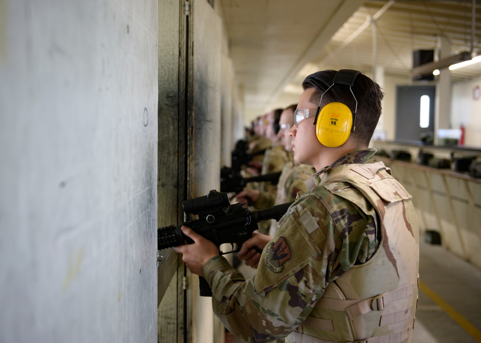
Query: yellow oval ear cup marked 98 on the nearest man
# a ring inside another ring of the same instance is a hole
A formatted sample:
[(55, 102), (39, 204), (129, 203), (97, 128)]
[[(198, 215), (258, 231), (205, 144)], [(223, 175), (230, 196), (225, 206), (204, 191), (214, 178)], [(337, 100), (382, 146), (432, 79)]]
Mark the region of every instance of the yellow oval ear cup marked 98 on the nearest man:
[(316, 135), (326, 147), (340, 147), (351, 134), (353, 113), (341, 102), (324, 106), (317, 117)]

